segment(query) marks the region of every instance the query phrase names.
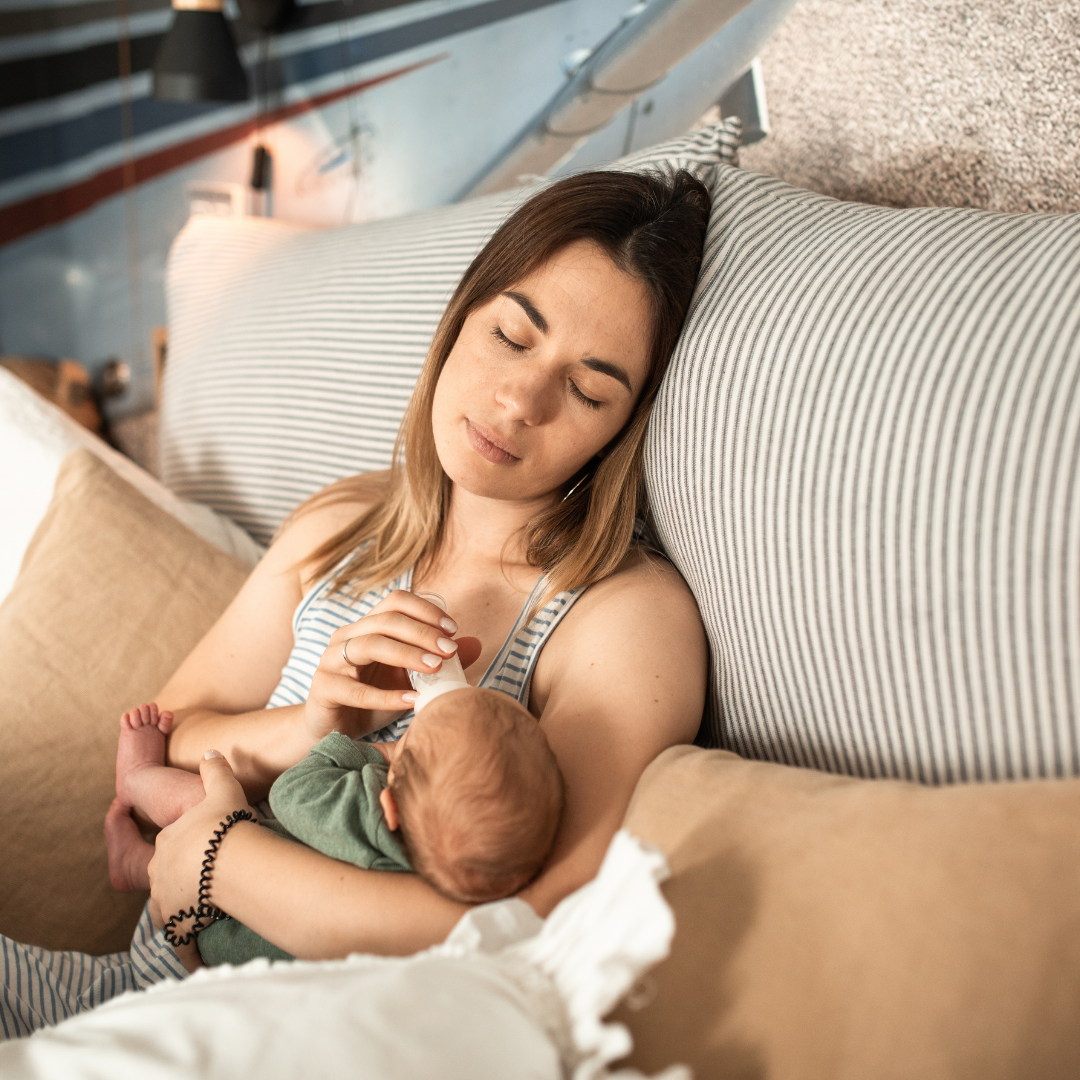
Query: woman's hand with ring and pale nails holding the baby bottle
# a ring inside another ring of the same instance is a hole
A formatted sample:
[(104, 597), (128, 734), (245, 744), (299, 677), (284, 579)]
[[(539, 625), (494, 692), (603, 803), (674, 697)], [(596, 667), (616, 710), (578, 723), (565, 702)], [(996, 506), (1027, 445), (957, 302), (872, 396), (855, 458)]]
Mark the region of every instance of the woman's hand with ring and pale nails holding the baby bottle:
[(359, 622), (336, 630), (303, 710), (312, 743), (332, 731), (350, 737), (377, 731), (409, 708), (416, 694), (406, 669), (437, 671), (455, 652), (462, 667), (474, 663), (481, 644), (475, 637), (455, 642), (457, 629), (430, 600), (399, 589)]

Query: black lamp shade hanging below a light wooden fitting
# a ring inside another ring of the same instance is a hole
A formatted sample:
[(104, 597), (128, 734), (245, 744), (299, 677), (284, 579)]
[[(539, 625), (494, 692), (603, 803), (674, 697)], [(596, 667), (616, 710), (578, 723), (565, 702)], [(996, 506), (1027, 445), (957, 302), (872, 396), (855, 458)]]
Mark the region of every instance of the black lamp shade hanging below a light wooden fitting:
[(247, 100), (247, 75), (220, 11), (176, 12), (153, 62), (153, 96), (164, 102)]

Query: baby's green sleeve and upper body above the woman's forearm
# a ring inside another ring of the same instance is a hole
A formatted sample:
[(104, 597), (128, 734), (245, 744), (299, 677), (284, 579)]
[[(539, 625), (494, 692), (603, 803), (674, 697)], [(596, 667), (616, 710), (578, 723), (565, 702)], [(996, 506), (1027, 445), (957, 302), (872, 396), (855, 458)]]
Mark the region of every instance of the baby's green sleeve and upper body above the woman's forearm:
[[(364, 767), (373, 765), (375, 771)], [(409, 869), (378, 804), (381, 755), (332, 732), (270, 788), (274, 816), (298, 840), (363, 869)], [(382, 772), (384, 775), (384, 772)]]

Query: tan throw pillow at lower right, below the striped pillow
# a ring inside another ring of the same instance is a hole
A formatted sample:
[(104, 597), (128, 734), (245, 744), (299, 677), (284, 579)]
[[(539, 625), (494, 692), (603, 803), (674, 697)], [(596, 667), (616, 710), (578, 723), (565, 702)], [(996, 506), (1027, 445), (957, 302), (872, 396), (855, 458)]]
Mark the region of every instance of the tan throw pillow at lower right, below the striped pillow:
[(1080, 1076), (1080, 781), (922, 787), (680, 746), (626, 827), (666, 852), (676, 917), (618, 1013), (644, 1071)]

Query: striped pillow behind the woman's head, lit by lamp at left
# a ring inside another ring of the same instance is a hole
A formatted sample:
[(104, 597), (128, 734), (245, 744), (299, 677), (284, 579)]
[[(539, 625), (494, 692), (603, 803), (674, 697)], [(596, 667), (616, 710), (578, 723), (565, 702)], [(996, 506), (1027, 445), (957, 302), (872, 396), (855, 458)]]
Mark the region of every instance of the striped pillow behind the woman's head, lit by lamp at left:
[[(738, 121), (616, 163), (711, 180)], [(314, 232), (193, 217), (170, 254), (161, 470), (266, 543), (319, 488), (390, 463), (443, 309), (507, 215), (537, 189)]]

